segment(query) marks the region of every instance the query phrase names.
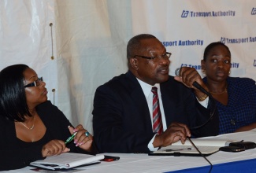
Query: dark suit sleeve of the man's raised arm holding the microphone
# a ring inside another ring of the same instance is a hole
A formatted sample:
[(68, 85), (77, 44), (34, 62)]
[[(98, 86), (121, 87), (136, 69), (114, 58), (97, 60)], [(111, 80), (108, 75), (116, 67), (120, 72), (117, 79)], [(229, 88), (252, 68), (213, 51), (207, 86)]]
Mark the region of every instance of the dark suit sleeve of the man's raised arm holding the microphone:
[(194, 90), (176, 82), (173, 76), (161, 83), (161, 95), (167, 126), (173, 122), (187, 124), (195, 138), (218, 134), (218, 115), (213, 99), (209, 99), (205, 108), (195, 98)]

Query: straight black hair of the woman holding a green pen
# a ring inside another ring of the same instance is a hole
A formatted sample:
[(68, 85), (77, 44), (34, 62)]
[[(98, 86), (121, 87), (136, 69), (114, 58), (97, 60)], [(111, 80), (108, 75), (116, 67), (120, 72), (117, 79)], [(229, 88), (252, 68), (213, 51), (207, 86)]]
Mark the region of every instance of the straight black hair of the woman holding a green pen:
[(24, 88), (25, 64), (10, 65), (0, 72), (0, 116), (24, 122), (29, 112)]

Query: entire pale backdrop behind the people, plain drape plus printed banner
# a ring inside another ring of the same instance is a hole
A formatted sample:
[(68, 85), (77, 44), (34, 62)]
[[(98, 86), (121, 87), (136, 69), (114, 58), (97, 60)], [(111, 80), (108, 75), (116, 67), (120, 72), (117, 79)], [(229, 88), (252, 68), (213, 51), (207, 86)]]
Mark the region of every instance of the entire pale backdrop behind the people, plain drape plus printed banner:
[(126, 45), (150, 33), (173, 53), (170, 75), (200, 61), (210, 42), (232, 52), (231, 76), (256, 80), (254, 0), (2, 0), (0, 69), (28, 64), (73, 125), (92, 131), (96, 88), (127, 72)]

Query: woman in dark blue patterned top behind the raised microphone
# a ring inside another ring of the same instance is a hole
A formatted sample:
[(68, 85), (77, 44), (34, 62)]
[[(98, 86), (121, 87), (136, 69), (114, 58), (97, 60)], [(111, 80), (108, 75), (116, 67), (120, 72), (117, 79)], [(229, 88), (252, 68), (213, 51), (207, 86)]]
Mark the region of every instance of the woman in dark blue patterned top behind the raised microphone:
[(228, 46), (212, 42), (206, 46), (202, 72), (219, 112), (219, 134), (256, 128), (256, 85), (253, 79), (229, 77), (231, 53)]

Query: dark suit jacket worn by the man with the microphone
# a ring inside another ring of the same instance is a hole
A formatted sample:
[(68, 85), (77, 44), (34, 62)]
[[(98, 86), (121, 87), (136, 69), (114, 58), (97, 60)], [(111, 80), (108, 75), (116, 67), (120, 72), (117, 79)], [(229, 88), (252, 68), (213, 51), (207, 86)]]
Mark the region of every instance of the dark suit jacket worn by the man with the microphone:
[[(210, 117), (210, 109), (173, 76), (160, 84), (167, 127), (174, 121), (198, 126)], [(99, 86), (93, 110), (94, 138), (100, 153), (149, 153), (154, 137), (150, 112), (143, 90), (132, 72), (119, 75)], [(213, 116), (195, 137), (218, 134), (218, 117)]]

